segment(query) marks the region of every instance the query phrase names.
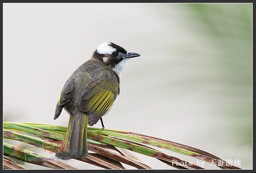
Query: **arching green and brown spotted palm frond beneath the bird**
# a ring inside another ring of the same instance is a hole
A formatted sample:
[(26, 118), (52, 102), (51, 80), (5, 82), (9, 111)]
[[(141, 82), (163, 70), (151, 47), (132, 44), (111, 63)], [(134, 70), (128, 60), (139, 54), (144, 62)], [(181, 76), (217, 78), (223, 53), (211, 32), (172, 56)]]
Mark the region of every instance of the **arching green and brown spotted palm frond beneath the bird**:
[[(38, 147), (52, 153), (56, 152), (58, 149), (58, 141), (63, 140), (65, 137), (66, 127), (30, 122), (4, 122), (3, 127), (4, 138), (22, 142), (22, 145), (19, 146), (4, 143), (5, 156), (48, 168), (76, 169), (61, 161), (51, 161), (49, 157), (28, 150), (32, 147)], [(150, 166), (142, 163), (138, 158), (129, 154), (127, 151), (133, 151), (156, 158), (178, 169), (203, 169), (195, 163), (171, 156), (152, 147), (166, 149), (184, 156), (214, 163), (222, 169), (239, 169), (206, 151), (153, 136), (114, 129), (103, 130), (93, 127), (88, 127), (87, 136), (88, 150), (93, 153), (89, 153), (86, 158), (79, 158), (77, 160), (105, 169), (125, 169), (122, 163), (138, 169), (151, 169)], [(219, 165), (219, 161), (222, 161), (224, 164)], [(16, 163), (6, 159), (4, 166), (5, 168), (18, 168)], [(20, 168), (22, 168), (22, 166)]]

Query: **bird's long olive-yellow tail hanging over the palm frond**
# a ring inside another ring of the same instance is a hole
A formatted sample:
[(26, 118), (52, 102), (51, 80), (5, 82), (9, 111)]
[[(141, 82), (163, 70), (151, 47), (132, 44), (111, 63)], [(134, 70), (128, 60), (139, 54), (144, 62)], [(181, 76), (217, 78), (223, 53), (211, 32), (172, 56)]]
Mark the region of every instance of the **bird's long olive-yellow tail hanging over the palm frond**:
[(56, 157), (61, 159), (84, 158), (87, 149), (88, 115), (84, 112), (71, 115), (64, 141), (57, 144)]

